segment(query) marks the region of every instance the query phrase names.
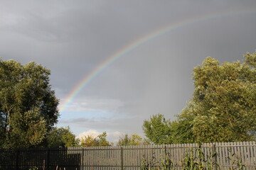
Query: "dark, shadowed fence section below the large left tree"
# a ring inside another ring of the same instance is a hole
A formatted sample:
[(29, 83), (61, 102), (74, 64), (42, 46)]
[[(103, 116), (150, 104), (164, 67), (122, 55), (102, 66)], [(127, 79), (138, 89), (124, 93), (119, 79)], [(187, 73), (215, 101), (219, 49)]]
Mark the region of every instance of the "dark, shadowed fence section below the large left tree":
[(80, 154), (67, 148), (0, 149), (1, 170), (80, 170), (80, 160)]

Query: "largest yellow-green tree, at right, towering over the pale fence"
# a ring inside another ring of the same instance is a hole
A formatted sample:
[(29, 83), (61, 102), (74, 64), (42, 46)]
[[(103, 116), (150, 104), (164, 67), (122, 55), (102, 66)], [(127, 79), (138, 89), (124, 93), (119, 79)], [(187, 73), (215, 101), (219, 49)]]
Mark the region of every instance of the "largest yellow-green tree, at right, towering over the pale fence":
[(195, 91), (178, 123), (188, 122), (186, 135), (193, 142), (253, 140), (256, 129), (256, 53), (245, 62), (207, 57), (193, 71)]

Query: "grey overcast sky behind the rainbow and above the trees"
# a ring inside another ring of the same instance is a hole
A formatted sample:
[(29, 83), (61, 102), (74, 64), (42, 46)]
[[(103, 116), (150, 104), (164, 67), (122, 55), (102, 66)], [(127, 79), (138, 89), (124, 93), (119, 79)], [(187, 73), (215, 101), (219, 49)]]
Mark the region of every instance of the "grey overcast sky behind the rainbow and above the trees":
[(115, 141), (143, 135), (151, 115), (175, 120), (206, 57), (232, 62), (255, 52), (256, 1), (0, 1), (0, 57), (50, 69), (61, 104), (105, 60), (168, 26), (108, 65), (60, 113), (58, 127), (107, 131)]

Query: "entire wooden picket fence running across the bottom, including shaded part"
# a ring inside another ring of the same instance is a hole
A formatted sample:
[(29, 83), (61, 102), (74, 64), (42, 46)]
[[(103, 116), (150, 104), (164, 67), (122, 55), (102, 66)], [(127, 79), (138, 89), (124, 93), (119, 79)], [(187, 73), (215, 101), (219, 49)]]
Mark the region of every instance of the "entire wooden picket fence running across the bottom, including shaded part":
[[(125, 147), (68, 147), (58, 149), (0, 149), (1, 170), (139, 170), (142, 162), (161, 169), (168, 154), (174, 169), (183, 169), (186, 154), (196, 155), (198, 144)], [(201, 145), (213, 169), (256, 169), (256, 142), (221, 142)], [(217, 153), (217, 154), (214, 154)]]

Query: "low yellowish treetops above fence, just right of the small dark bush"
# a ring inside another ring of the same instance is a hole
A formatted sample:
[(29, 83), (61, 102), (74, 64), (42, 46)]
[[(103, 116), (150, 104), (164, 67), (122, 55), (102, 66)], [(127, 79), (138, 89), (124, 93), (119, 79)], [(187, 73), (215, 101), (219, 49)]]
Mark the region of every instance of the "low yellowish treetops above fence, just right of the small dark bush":
[(102, 132), (102, 134), (97, 137), (92, 135), (87, 135), (82, 137), (80, 146), (81, 147), (101, 147), (101, 146), (112, 146), (113, 144), (107, 141), (107, 132)]

